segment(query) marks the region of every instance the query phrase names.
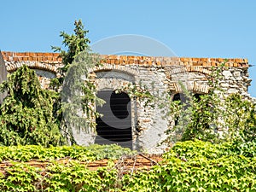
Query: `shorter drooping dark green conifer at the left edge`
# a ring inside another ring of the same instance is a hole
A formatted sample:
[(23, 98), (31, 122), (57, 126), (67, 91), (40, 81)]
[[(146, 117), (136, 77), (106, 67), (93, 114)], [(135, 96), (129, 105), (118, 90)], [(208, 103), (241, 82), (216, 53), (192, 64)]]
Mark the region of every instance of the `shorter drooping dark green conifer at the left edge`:
[(55, 95), (43, 90), (32, 69), (22, 66), (0, 87), (8, 96), (1, 105), (1, 145), (59, 145), (61, 134), (53, 115)]

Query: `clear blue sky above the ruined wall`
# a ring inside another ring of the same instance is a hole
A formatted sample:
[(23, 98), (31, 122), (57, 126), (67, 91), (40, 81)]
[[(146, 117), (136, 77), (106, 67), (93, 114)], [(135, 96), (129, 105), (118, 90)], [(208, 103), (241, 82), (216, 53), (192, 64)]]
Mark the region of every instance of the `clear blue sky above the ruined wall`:
[[(178, 56), (247, 58), (256, 65), (256, 1), (2, 1), (0, 49), (51, 52), (81, 19), (91, 43), (114, 35), (159, 40)], [(256, 67), (249, 92), (256, 96)]]

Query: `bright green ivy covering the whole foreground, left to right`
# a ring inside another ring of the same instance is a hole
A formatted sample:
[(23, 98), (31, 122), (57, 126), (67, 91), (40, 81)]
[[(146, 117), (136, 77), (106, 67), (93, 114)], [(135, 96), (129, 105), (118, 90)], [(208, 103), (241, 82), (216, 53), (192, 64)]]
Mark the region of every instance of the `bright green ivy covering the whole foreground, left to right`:
[[(176, 143), (159, 165), (125, 174), (113, 160), (134, 152), (116, 145), (0, 151), (2, 163), (13, 161), (1, 173), (0, 191), (256, 191), (255, 143)], [(65, 157), (70, 161), (57, 161)], [(102, 159), (108, 159), (108, 166), (96, 171), (81, 163)], [(50, 163), (40, 168), (26, 164), (29, 160)]]

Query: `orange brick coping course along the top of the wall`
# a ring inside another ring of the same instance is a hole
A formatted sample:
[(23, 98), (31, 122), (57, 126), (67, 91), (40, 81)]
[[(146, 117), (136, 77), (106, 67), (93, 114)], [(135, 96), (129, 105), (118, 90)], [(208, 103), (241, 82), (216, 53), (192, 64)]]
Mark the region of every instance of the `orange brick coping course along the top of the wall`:
[[(42, 52), (11, 52), (1, 51), (4, 61), (40, 61), (47, 63), (61, 63), (59, 53)], [(247, 59), (241, 58), (195, 58), (195, 57), (162, 57), (137, 55), (101, 55), (102, 63), (113, 65), (147, 65), (147, 66), (219, 66), (226, 61), (226, 67), (249, 67)]]

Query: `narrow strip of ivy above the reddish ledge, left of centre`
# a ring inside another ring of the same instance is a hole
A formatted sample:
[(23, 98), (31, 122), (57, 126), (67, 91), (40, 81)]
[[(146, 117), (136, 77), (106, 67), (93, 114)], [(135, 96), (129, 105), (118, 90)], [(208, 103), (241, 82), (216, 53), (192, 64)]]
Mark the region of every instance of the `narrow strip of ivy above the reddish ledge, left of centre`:
[(118, 159), (122, 155), (134, 154), (129, 148), (121, 148), (119, 145), (90, 145), (82, 146), (58, 146), (44, 148), (42, 146), (26, 145), (0, 147), (0, 160), (56, 160), (71, 158), (80, 161), (92, 161), (102, 159)]

